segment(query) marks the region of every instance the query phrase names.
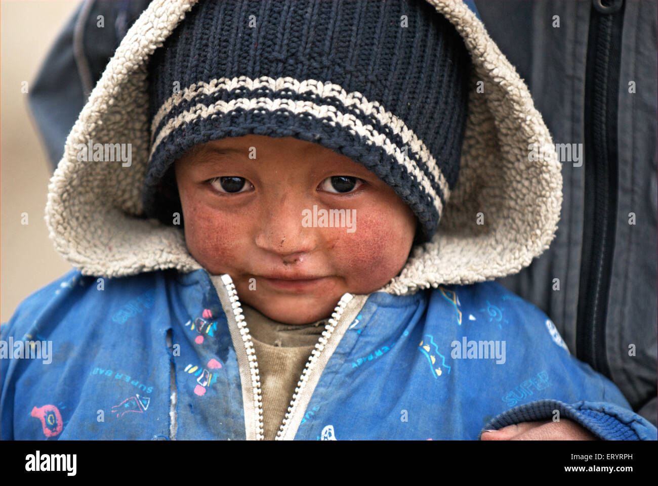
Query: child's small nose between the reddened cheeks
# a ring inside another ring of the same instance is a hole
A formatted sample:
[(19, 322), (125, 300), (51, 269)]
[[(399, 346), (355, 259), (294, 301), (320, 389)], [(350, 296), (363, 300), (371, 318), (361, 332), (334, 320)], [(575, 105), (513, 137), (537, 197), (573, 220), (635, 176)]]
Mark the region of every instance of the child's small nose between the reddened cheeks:
[(288, 263), (315, 250), (315, 229), (302, 225), (304, 208), (303, 204), (285, 199), (265, 208), (256, 233), (257, 247), (284, 257)]

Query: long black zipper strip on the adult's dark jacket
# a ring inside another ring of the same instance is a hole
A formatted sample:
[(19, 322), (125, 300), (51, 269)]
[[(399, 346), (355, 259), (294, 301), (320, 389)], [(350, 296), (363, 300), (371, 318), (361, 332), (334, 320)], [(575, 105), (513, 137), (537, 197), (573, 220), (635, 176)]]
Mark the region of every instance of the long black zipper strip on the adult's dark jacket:
[[(611, 116), (617, 116), (617, 106), (610, 104), (611, 95), (617, 95), (619, 89), (616, 87), (619, 83), (619, 72), (613, 62), (619, 62), (620, 52), (615, 48), (613, 36), (620, 35), (623, 7), (622, 0), (617, 10), (603, 13), (597, 8), (597, 0), (593, 2), (593, 18), (596, 22), (592, 22), (590, 26), (595, 30), (592, 30), (590, 35), (587, 61), (592, 72), (586, 84), (586, 99), (589, 100), (589, 102), (586, 101), (586, 106), (589, 106), (590, 113), (586, 112), (585, 117), (586, 160), (588, 160), (585, 178), (585, 218), (587, 219), (589, 214), (587, 208), (593, 205), (592, 220), (600, 221), (600, 224), (595, 224), (592, 230), (584, 232), (584, 243), (588, 247), (582, 253), (580, 270), (579, 295), (582, 302), (578, 305), (576, 322), (576, 355), (607, 376), (609, 376), (609, 370), (605, 358), (605, 320), (607, 320), (609, 299), (607, 294), (610, 291), (611, 276), (609, 271), (604, 272), (603, 266), (612, 264), (612, 252), (615, 245), (617, 188), (613, 187), (613, 184), (617, 181), (619, 159), (616, 153), (610, 153), (611, 148), (617, 150), (617, 135), (609, 133), (609, 129), (611, 126), (616, 128), (617, 121), (605, 118), (603, 124), (599, 124), (597, 128), (591, 123), (588, 124), (588, 120), (591, 116), (595, 116), (596, 112), (607, 116), (608, 110), (611, 108), (615, 108), (611, 112)], [(598, 13), (594, 14), (594, 11)], [(594, 83), (597, 81), (603, 84), (599, 88), (602, 91), (601, 96), (597, 96), (597, 89), (595, 89)], [(615, 90), (614, 93), (611, 93), (611, 90)], [(604, 141), (601, 144), (603, 147), (597, 149), (596, 143), (600, 139)], [(597, 150), (600, 151), (601, 160), (596, 157)], [(602, 167), (595, 165), (597, 162)], [(588, 187), (590, 187), (589, 191)], [(590, 258), (597, 258), (597, 261), (588, 267), (586, 260), (590, 260)]]

